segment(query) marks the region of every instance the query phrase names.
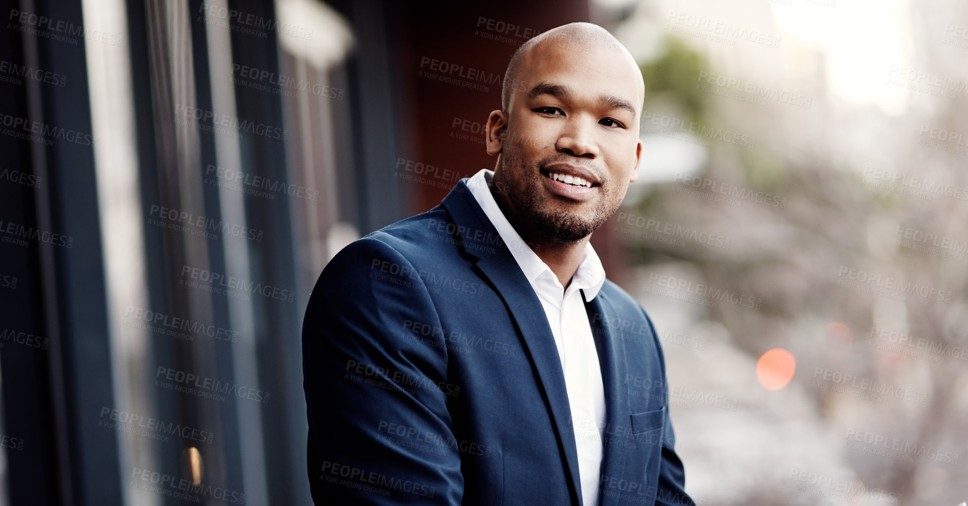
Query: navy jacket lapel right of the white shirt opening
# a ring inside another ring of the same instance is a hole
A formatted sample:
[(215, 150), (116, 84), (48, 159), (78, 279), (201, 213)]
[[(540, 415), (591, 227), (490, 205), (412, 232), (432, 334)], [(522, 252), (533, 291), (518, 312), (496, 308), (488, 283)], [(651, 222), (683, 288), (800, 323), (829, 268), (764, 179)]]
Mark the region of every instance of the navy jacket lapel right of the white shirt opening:
[[(598, 295), (591, 302), (585, 303), (585, 310), (589, 313), (591, 334), (595, 339), (598, 362), (602, 370), (602, 383), (605, 386), (605, 429), (602, 431), (605, 443), (602, 445), (601, 474), (621, 477), (625, 461), (621, 448), (624, 447), (622, 443), (628, 441), (617, 439), (625, 437), (631, 430), (628, 389), (624, 384), (625, 372), (628, 371), (628, 366), (625, 364), (625, 342), (609, 325), (610, 321), (615, 321), (617, 313), (603, 290), (599, 290)], [(617, 501), (616, 496), (599, 493), (599, 506), (611, 506)]]

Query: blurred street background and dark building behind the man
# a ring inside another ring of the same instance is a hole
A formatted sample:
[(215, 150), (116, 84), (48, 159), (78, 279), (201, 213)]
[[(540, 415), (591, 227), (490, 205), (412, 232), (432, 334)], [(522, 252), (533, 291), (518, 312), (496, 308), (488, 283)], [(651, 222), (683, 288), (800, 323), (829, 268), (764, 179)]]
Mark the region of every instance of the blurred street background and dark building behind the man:
[(507, 60), (580, 20), (645, 76), (639, 181), (592, 243), (660, 334), (687, 491), (968, 499), (968, 4), (3, 14), (0, 504), (311, 503), (319, 272), (493, 168)]

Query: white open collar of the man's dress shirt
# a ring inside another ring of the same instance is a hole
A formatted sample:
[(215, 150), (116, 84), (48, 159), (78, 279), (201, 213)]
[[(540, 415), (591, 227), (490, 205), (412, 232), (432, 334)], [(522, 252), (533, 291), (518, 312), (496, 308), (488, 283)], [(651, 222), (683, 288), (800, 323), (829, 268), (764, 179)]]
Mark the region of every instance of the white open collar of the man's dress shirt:
[[(546, 276), (550, 275), (550, 279), (560, 285), (551, 267), (548, 267), (548, 264), (531, 250), (530, 246), (518, 234), (518, 231), (507, 221), (504, 213), (501, 212), (498, 201), (495, 200), (494, 194), (491, 193), (489, 186), (489, 182), (493, 176), (494, 171), (491, 169), (482, 168), (478, 170), (467, 181), (470, 194), (474, 195), (474, 199), (480, 204), (488, 220), (498, 230), (500, 239), (504, 241), (504, 245), (511, 251), (514, 259), (518, 262), (518, 266), (521, 267), (521, 271), (528, 278), (528, 282), (533, 286), (537, 279), (544, 274)], [(598, 253), (595, 253), (595, 249), (591, 247), (591, 243), (585, 243), (585, 253), (582, 256), (582, 261), (578, 264), (578, 270), (572, 276), (571, 284), (568, 288), (571, 289), (571, 286), (575, 286), (576, 289), (581, 288), (585, 292), (586, 300), (590, 301), (595, 298), (604, 283), (605, 268), (602, 267), (601, 259), (598, 258)]]

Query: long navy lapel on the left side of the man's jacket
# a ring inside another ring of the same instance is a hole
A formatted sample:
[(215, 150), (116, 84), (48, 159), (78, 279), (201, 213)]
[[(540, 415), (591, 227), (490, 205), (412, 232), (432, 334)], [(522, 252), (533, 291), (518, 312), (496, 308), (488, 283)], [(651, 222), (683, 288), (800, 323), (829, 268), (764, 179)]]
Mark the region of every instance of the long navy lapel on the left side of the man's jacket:
[(476, 266), (494, 284), (495, 290), (524, 336), (527, 353), (541, 380), (541, 387), (554, 419), (560, 451), (564, 454), (571, 477), (571, 502), (582, 504), (581, 494), (578, 493), (581, 483), (578, 474), (578, 450), (571, 429), (571, 408), (555, 337), (548, 325), (541, 301), (514, 256), (504, 246), (503, 241), (498, 240), (498, 230), (487, 219), (465, 181), (462, 179), (441, 204), (458, 225), (457, 233), (461, 235), (465, 253), (476, 257)]

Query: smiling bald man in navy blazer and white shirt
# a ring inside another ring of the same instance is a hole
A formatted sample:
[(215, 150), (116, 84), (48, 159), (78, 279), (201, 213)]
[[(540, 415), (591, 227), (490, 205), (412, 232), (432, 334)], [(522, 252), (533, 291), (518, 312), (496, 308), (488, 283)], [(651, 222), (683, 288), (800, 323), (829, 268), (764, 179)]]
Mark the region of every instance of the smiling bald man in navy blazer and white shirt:
[(329, 262), (303, 326), (317, 504), (693, 504), (654, 329), (589, 243), (637, 178), (644, 93), (599, 26), (531, 39), (495, 170)]

